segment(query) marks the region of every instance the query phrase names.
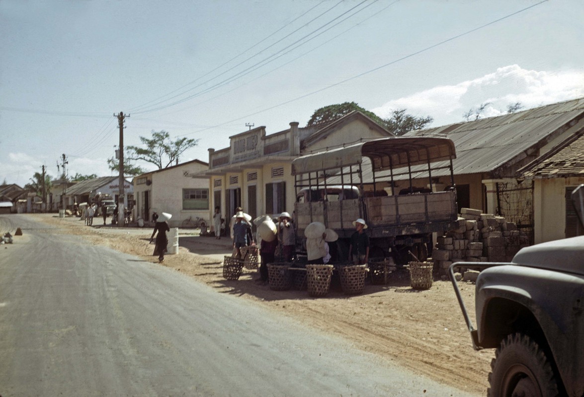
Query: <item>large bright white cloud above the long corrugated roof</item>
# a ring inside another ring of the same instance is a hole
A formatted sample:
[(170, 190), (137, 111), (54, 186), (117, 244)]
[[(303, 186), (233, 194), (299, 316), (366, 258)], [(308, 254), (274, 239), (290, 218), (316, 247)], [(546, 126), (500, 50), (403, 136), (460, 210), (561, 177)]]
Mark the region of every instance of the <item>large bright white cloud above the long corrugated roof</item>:
[(506, 113), (507, 106), (517, 102), (528, 109), (583, 96), (582, 71), (529, 71), (509, 65), (474, 80), (391, 100), (371, 111), (389, 117), (392, 110), (405, 108), (409, 114), (432, 116), (437, 127), (463, 121), (464, 113), (484, 103), (489, 105), (482, 115), (490, 117)]

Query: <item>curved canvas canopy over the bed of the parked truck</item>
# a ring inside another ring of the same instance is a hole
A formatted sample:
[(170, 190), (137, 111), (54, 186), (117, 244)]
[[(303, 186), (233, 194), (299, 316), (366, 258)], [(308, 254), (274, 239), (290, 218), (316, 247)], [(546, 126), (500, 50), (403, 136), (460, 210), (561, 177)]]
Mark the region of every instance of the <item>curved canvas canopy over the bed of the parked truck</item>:
[(292, 175), (361, 164), (369, 157), (375, 171), (456, 159), (454, 142), (447, 138), (381, 138), (339, 147), (292, 161)]

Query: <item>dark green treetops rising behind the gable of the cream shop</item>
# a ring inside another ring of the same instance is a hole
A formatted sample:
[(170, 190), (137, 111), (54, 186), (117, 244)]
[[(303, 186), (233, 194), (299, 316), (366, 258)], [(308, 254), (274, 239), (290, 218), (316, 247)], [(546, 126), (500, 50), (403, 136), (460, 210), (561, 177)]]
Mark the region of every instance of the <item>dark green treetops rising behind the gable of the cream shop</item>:
[(360, 111), (371, 120), (381, 125), (381, 127), (395, 133), (395, 135), (404, 135), (404, 133), (408, 131), (422, 129), (434, 121), (430, 116), (415, 117), (411, 114), (406, 114), (405, 109), (394, 110), (391, 112), (390, 118), (384, 119), (369, 110), (365, 110), (354, 102), (345, 102), (318, 108), (314, 111), (310, 120), (308, 120), (307, 127), (320, 127), (331, 124), (331, 122), (338, 120), (355, 110)]

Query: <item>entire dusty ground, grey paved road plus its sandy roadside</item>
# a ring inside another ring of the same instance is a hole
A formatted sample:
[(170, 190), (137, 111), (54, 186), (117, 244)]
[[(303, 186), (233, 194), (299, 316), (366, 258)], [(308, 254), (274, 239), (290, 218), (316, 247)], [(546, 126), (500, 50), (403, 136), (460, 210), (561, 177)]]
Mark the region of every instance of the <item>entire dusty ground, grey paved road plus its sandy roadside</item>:
[[(272, 291), (252, 270), (224, 280), (224, 239), (185, 236), (163, 266), (149, 229), (0, 217), (0, 229), (15, 227), (24, 236), (0, 246), (0, 379), (12, 387), (2, 396), (486, 395), (493, 352), (472, 350), (447, 282), (414, 291), (397, 274), (359, 296), (311, 298)], [(472, 307), (474, 286), (463, 293)], [(62, 371), (76, 381), (51, 383)], [(38, 375), (32, 393), (18, 389), (20, 373)]]

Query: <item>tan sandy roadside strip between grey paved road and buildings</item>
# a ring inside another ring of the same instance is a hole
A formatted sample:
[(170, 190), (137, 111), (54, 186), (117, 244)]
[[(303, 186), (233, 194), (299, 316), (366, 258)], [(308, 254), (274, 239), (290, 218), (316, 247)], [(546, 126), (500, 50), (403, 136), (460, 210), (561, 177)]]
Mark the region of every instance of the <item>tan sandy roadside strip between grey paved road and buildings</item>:
[[(94, 227), (86, 227), (71, 217), (34, 216), (60, 226), (65, 233), (85, 236), (94, 244), (158, 263), (152, 257), (154, 245), (147, 241), (150, 229), (99, 227), (100, 219)], [(218, 293), (234, 294), (342, 336), (360, 349), (377, 353), (414, 373), (486, 395), (494, 351), (472, 349), (450, 282), (435, 281), (429, 290), (413, 290), (408, 273), (398, 270), (392, 273), (387, 286), (367, 283), (363, 294), (357, 296), (347, 296), (333, 287), (326, 297), (313, 298), (305, 290), (270, 290), (269, 285), (255, 282), (255, 270), (244, 269), (237, 281), (225, 280), (220, 260), (229, 252), (225, 238), (217, 241), (197, 236), (189, 240), (194, 243), (188, 249), (180, 247), (179, 254), (166, 255), (161, 265), (206, 283)], [(197, 254), (197, 244), (205, 255)], [(474, 284), (462, 283), (460, 287), (474, 318)]]

